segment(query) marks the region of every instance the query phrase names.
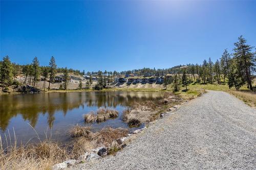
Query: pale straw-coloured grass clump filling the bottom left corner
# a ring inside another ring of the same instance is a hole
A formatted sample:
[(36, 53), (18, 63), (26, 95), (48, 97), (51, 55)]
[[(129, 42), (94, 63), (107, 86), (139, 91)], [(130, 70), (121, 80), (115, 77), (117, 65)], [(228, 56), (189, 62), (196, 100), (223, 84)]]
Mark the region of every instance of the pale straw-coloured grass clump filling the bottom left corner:
[(50, 140), (20, 147), (14, 142), (3, 149), (0, 137), (0, 144), (0, 169), (51, 169), (53, 164), (68, 158), (67, 148)]

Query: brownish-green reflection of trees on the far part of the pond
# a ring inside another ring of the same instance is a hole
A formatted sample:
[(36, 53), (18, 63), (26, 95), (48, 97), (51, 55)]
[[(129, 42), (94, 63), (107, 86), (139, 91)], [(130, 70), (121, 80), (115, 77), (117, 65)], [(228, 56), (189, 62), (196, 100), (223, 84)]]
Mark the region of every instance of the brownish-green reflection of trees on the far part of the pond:
[(69, 110), (87, 107), (130, 106), (133, 101), (158, 99), (156, 92), (67, 92), (17, 94), (0, 96), (0, 127), (3, 131), (8, 127), (12, 117), (22, 115), (31, 126), (35, 127), (39, 114), (48, 114), (48, 125), (52, 128), (56, 111), (62, 111), (66, 116)]

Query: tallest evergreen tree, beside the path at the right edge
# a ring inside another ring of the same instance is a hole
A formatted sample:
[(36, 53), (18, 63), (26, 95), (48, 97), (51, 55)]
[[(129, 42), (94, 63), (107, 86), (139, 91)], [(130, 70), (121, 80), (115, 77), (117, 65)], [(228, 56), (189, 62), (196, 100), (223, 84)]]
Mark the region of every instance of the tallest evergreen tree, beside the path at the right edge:
[(234, 43), (235, 47), (233, 48), (234, 54), (233, 56), (237, 59), (239, 64), (239, 70), (244, 75), (245, 81), (247, 82), (247, 87), (252, 89), (252, 76), (251, 69), (254, 66), (253, 59), (254, 54), (252, 51), (252, 46), (246, 44), (246, 40), (243, 36), (238, 38), (238, 42)]

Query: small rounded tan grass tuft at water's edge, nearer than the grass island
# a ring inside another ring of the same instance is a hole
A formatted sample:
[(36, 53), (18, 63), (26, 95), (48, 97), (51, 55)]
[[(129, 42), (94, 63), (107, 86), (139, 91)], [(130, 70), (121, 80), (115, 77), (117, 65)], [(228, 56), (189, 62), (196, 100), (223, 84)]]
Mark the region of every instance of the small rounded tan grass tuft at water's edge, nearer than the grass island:
[(71, 138), (80, 137), (80, 136), (88, 137), (91, 135), (90, 129), (91, 127), (75, 125), (73, 128), (69, 130), (69, 135)]

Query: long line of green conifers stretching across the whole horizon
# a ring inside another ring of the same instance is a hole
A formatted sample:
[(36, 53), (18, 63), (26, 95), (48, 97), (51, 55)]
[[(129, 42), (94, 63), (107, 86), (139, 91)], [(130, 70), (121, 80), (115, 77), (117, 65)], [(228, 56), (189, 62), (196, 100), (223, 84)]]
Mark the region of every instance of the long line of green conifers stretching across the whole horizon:
[[(189, 83), (214, 83), (218, 84), (227, 82), (229, 88), (235, 87), (239, 89), (243, 85), (253, 90), (252, 79), (256, 72), (256, 50), (253, 52), (253, 46), (248, 45), (246, 39), (243, 36), (238, 38), (238, 41), (234, 43), (233, 53), (230, 54), (227, 49), (224, 50), (221, 58), (216, 62), (213, 62), (211, 58), (204, 60), (202, 64), (186, 64), (178, 65), (172, 68), (155, 69), (155, 68), (142, 68), (126, 71), (91, 71), (85, 72), (80, 70), (57, 68), (54, 57), (51, 57), (49, 66), (40, 66), (37, 57), (35, 57), (31, 64), (19, 65), (12, 63), (8, 56), (0, 61), (0, 78), (2, 90), (5, 86), (17, 84), (16, 78), (21, 75), (25, 76), (24, 84), (36, 86), (41, 75), (44, 80), (43, 88), (46, 88), (47, 79), (49, 78), (48, 90), (50, 90), (50, 84), (54, 82), (54, 77), (57, 72), (63, 73), (64, 84), (61, 85), (61, 89), (67, 89), (69, 82), (69, 72), (76, 72), (80, 75), (90, 76), (90, 81), (87, 82), (86, 88), (90, 88), (92, 85), (92, 76), (97, 76), (98, 83), (96, 89), (102, 89), (106, 87), (107, 83), (110, 83), (117, 75), (136, 74), (138, 76), (164, 76), (164, 87), (168, 84), (172, 84), (175, 90), (178, 90), (180, 86), (186, 87)], [(166, 74), (172, 74), (171, 78), (167, 78)], [(13, 79), (14, 77), (14, 79)], [(79, 89), (82, 88), (81, 81), (79, 82)]]

